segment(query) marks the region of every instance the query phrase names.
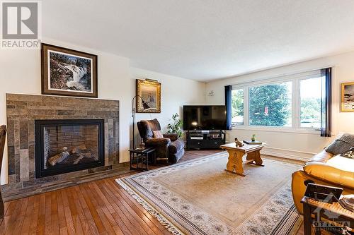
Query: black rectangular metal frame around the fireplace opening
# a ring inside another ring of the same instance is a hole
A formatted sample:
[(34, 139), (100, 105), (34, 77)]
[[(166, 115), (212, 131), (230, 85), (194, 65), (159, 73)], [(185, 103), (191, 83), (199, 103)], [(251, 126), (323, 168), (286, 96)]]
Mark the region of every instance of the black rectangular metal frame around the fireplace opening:
[[(98, 161), (87, 162), (75, 166), (63, 166), (55, 169), (45, 169), (44, 161), (44, 127), (45, 126), (77, 126), (93, 124), (98, 125)], [(54, 176), (58, 174), (102, 167), (105, 164), (105, 123), (104, 119), (46, 119), (35, 120), (35, 178)]]

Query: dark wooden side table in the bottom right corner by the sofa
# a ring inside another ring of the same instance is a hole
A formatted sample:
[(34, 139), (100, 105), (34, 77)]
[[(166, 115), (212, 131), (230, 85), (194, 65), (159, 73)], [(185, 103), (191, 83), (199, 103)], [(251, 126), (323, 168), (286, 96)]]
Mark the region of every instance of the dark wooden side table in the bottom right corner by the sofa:
[(343, 227), (353, 231), (354, 212), (344, 209), (339, 203), (323, 203), (309, 197), (302, 198), (301, 203), (304, 205), (304, 235), (311, 235), (312, 227), (316, 235), (321, 234), (321, 230), (342, 234)]

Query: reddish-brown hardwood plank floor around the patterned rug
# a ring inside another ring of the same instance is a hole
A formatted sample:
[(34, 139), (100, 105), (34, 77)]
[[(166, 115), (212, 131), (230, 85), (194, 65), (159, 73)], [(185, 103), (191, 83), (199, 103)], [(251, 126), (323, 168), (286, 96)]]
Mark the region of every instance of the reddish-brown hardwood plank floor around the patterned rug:
[[(220, 151), (187, 151), (180, 162), (215, 152)], [(115, 182), (136, 172), (5, 203), (0, 235), (171, 234)]]

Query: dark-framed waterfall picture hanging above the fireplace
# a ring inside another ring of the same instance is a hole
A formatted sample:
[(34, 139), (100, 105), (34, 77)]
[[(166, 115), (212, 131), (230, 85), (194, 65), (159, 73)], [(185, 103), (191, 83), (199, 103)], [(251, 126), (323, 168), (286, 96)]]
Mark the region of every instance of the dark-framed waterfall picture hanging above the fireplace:
[(42, 94), (98, 97), (97, 56), (41, 45)]

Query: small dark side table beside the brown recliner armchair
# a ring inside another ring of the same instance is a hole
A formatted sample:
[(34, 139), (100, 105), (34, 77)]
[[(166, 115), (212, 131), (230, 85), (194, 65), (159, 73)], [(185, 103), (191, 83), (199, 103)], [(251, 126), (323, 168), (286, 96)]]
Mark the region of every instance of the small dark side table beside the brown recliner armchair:
[(154, 147), (147, 147), (144, 149), (129, 150), (130, 155), (130, 169), (137, 171), (149, 170), (149, 158), (156, 159)]

